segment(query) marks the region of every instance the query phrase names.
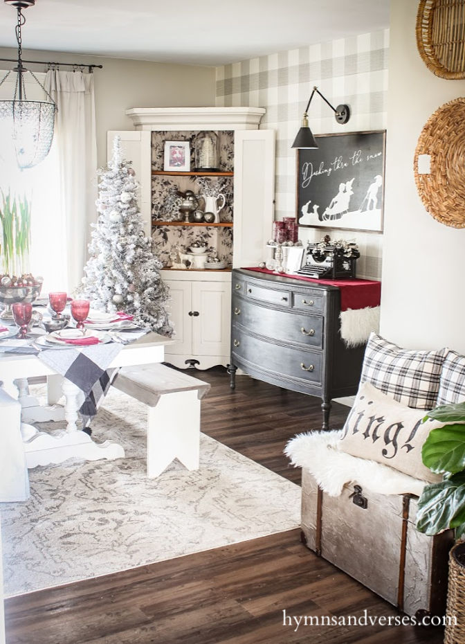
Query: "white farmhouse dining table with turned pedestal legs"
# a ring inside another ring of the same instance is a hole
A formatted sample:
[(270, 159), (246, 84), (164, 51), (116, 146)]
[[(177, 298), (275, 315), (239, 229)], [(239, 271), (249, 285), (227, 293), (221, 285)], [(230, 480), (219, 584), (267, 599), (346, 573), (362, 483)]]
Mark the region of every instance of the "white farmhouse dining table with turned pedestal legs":
[[(109, 364), (108, 368), (134, 366), (162, 362), (165, 346), (174, 340), (150, 332), (138, 340), (122, 347), (122, 350)], [(53, 350), (53, 349), (51, 349)], [(35, 399), (28, 395), (27, 379), (30, 377), (47, 378), (48, 408), (37, 406)], [(95, 443), (89, 434), (77, 426), (78, 409), (84, 398), (83, 393), (73, 382), (57, 374), (35, 355), (0, 355), (0, 381), (3, 388), (18, 398), (23, 410), (22, 420), (64, 420), (66, 427), (53, 430), (53, 433), (38, 431), (33, 425), (21, 422), (21, 431), (26, 463), (29, 468), (49, 463), (62, 463), (77, 456), (85, 460), (100, 458), (122, 458), (125, 452), (121, 445), (109, 440)], [(58, 405), (64, 395), (64, 406)]]

